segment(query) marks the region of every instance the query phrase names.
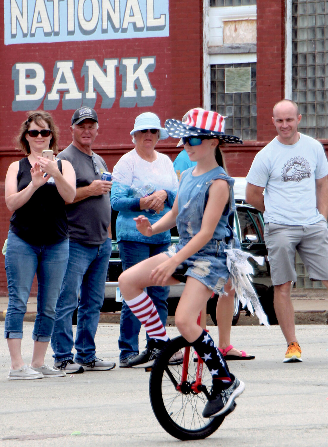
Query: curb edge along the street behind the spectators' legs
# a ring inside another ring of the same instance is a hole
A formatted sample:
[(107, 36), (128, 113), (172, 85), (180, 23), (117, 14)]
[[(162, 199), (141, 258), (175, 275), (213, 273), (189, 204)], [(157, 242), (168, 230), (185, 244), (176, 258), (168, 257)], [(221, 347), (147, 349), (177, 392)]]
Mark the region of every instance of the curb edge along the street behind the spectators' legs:
[[(114, 323), (119, 324), (121, 312), (101, 312), (99, 323)], [(35, 312), (26, 312), (24, 321), (34, 322), (36, 317)], [(4, 321), (5, 311), (0, 313), (0, 321)], [(167, 326), (175, 326), (174, 316), (168, 316)], [(207, 326), (214, 326), (214, 323), (207, 315)], [(240, 312), (240, 317), (237, 323), (238, 326), (258, 326), (259, 320), (257, 316), (246, 316), (245, 311)], [(295, 325), (328, 325), (328, 311), (326, 310), (304, 310), (295, 311)]]

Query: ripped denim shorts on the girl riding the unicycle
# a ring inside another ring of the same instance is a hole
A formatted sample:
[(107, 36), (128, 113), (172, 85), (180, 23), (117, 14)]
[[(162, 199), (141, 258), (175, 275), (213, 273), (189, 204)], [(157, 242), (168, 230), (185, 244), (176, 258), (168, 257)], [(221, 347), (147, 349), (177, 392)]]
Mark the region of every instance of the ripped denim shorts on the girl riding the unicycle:
[[(185, 244), (173, 244), (164, 252), (169, 257), (178, 253)], [(229, 279), (229, 270), (227, 268), (227, 255), (225, 249), (231, 248), (231, 245), (225, 244), (222, 240), (207, 243), (197, 253), (183, 261), (181, 264), (188, 267), (185, 276), (191, 276), (198, 279), (202, 284), (213, 290), (215, 293), (223, 291), (223, 286)]]

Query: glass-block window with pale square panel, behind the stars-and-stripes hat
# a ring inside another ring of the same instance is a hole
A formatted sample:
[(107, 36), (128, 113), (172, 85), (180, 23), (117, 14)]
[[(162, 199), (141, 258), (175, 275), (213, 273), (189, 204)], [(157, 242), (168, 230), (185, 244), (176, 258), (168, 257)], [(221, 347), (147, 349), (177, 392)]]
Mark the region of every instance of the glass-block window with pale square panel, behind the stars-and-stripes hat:
[(227, 135), (257, 139), (256, 62), (211, 65), (211, 110), (227, 116)]

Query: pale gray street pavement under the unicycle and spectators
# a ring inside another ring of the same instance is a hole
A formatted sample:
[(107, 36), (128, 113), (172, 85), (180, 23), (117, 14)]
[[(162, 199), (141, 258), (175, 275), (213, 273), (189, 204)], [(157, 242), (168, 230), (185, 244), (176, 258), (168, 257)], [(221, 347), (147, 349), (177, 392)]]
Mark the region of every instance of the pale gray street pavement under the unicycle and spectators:
[[(4, 322), (0, 322), (3, 331)], [(24, 322), (22, 354), (32, 355), (33, 323)], [(209, 327), (217, 340), (217, 329)], [(3, 332), (2, 332), (3, 333)], [(118, 363), (117, 324), (99, 324), (97, 355)], [(168, 327), (170, 337), (177, 329)], [(283, 363), (286, 343), (278, 326), (235, 326), (231, 343), (254, 360), (229, 367), (246, 388), (219, 429), (192, 446), (328, 445), (328, 326), (297, 325), (303, 363)], [(141, 345), (145, 339), (142, 329)], [(52, 365), (48, 348), (46, 363)], [(10, 358), (0, 337), (0, 445), (143, 446), (181, 443), (158, 424), (149, 401), (149, 373), (119, 368), (62, 378), (7, 380)]]

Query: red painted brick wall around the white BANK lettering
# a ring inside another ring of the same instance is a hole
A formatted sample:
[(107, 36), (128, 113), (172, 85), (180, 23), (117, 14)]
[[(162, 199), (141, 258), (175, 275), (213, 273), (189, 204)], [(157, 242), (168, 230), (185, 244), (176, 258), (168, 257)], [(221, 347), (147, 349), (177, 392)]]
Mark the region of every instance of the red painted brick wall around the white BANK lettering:
[[(17, 1), (17, 4), (19, 2)], [(130, 131), (135, 117), (145, 111), (156, 113), (162, 124), (167, 118), (182, 118), (192, 107), (202, 105), (202, 2), (199, 0), (169, 1), (169, 36), (157, 38), (130, 38), (85, 42), (52, 42), (39, 44), (4, 45), (4, 2), (0, 4), (0, 245), (6, 239), (10, 213), (4, 203), (4, 179), (8, 165), (20, 155), (14, 150), (13, 137), (25, 111), (13, 111), (15, 98), (12, 68), (17, 63), (39, 63), (45, 70), (46, 93), (54, 83), (56, 61), (73, 60), (77, 86), (84, 91), (81, 69), (86, 59), (95, 59), (100, 67), (104, 59), (156, 57), (156, 67), (148, 74), (151, 86), (156, 89), (154, 104), (145, 107), (120, 107), (122, 76), (116, 68), (116, 99), (111, 108), (101, 109), (101, 95), (97, 93), (94, 109), (97, 110), (100, 130), (94, 144), (95, 152), (105, 159), (110, 170), (117, 160), (130, 150)], [(69, 126), (73, 110), (63, 110), (63, 92), (55, 110), (50, 111), (60, 129), (60, 148), (71, 143)], [(44, 101), (39, 108), (43, 109)], [(80, 104), (82, 105), (82, 104)], [(80, 106), (79, 105), (79, 106)], [(77, 108), (77, 107), (75, 107)], [(161, 152), (174, 160), (178, 150), (176, 140), (168, 139), (157, 145)], [(7, 294), (4, 257), (0, 255), (0, 294)], [(33, 289), (35, 292), (35, 287)]]

